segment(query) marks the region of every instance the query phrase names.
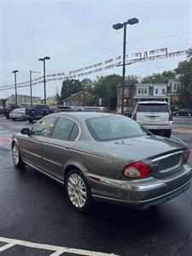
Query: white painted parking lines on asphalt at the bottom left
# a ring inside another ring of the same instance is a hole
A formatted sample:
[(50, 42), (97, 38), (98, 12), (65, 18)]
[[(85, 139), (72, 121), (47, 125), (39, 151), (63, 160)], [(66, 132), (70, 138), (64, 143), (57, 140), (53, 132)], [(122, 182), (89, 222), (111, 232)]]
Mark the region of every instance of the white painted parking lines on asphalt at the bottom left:
[(49, 250), (49, 251), (55, 251), (50, 254), (51, 256), (59, 256), (59, 255), (61, 255), (61, 253), (76, 253), (76, 254), (84, 255), (84, 256), (119, 256), (114, 253), (101, 253), (101, 252), (96, 252), (96, 251), (75, 249), (75, 248), (69, 248), (69, 247), (59, 247), (59, 246), (53, 246), (53, 245), (49, 245), (49, 244), (42, 244), (42, 243), (31, 242), (31, 241), (22, 241), (22, 240), (17, 240), (17, 239), (11, 239), (11, 238), (2, 237), (2, 236), (0, 236), (0, 241), (9, 243), (8, 245), (0, 247), (0, 251), (1, 251), (1, 248), (4, 248), (3, 250), (6, 250), (9, 247), (13, 247), (15, 245), (20, 245), (20, 246), (24, 246), (24, 247), (32, 247), (32, 248)]

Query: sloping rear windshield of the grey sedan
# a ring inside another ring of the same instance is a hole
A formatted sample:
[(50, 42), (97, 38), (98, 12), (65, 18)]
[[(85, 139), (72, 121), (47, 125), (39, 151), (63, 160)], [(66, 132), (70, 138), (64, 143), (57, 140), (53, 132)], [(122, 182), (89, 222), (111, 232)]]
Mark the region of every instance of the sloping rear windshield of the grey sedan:
[(150, 135), (135, 121), (123, 116), (87, 119), (86, 125), (91, 136), (100, 142)]

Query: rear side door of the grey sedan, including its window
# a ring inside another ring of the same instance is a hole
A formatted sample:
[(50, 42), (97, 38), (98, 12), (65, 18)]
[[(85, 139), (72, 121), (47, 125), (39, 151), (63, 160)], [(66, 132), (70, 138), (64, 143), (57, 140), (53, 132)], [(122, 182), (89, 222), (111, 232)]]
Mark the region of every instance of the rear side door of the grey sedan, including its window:
[(75, 120), (60, 117), (55, 124), (51, 137), (43, 138), (44, 170), (51, 176), (63, 180), (63, 167), (72, 154), (79, 133), (80, 128)]

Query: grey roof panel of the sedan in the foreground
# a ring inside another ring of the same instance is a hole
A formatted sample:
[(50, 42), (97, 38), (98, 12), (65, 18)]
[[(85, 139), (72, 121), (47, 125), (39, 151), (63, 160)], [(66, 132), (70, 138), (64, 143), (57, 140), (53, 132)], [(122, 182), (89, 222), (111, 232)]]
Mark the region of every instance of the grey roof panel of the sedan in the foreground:
[(111, 115), (116, 115), (114, 113), (101, 113), (101, 112), (61, 112), (61, 113), (52, 113), (51, 115), (63, 116), (63, 117), (73, 117), (79, 120), (92, 119), (97, 117), (108, 117)]

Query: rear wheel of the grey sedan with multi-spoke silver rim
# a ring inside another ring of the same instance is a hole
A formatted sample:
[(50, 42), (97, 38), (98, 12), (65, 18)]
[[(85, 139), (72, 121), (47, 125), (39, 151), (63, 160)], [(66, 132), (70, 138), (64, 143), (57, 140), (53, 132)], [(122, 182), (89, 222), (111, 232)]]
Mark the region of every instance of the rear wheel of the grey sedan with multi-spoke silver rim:
[(79, 170), (73, 169), (68, 172), (65, 183), (67, 200), (71, 206), (78, 212), (86, 212), (90, 208), (92, 198), (90, 186), (84, 175)]

